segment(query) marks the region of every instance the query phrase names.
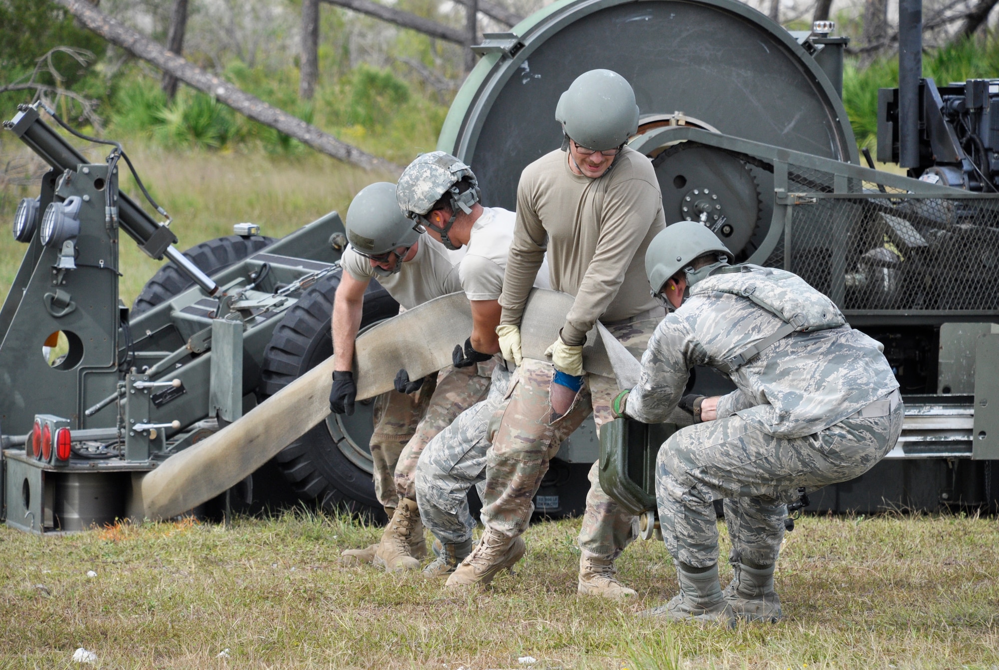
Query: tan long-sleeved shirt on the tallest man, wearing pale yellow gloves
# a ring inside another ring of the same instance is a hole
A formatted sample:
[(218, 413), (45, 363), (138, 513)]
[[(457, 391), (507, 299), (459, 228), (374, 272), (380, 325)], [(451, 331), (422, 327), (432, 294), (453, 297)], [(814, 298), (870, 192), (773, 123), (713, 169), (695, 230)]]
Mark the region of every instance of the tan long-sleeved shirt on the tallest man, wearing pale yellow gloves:
[(501, 324), (519, 325), (547, 251), (551, 288), (575, 296), (562, 338), (581, 342), (597, 320), (615, 322), (656, 307), (645, 250), (666, 226), (651, 161), (625, 147), (598, 179), (575, 175), (555, 150), (520, 174), (516, 227), (503, 280)]

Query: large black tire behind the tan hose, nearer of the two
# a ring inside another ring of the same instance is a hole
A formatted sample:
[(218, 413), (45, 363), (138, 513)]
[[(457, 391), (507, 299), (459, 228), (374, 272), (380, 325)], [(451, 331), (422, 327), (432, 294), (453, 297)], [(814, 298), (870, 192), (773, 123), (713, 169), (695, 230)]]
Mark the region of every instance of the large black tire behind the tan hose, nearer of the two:
[[(264, 350), (261, 394), (273, 395), (333, 354), (330, 323), (341, 273), (306, 291), (274, 330)], [(365, 293), (362, 329), (399, 314), (399, 304), (377, 282)], [(372, 403), (358, 402), (351, 416), (330, 414), (275, 456), (275, 461), (304, 499), (329, 511), (347, 510), (381, 519), (375, 497), (369, 440)]]

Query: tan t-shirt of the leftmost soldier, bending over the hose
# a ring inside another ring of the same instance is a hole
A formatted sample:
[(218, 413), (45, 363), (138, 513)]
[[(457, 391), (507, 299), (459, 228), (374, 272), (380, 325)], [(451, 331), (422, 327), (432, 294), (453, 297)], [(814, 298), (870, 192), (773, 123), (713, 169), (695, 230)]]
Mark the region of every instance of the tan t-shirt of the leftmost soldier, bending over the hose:
[(358, 282), (378, 280), (397, 303), (406, 310), (412, 310), (427, 301), (447, 296), (462, 290), (458, 259), (449, 255), (440, 242), (429, 235), (420, 236), (420, 246), (412, 261), (403, 264), (403, 269), (395, 275), (380, 277), (368, 259), (350, 246), (344, 250), (340, 264)]

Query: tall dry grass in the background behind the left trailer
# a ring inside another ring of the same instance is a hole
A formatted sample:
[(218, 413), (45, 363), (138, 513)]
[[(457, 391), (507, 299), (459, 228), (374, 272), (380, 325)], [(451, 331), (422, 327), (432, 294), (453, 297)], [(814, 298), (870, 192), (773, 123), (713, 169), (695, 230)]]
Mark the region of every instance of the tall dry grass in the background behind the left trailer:
[[(100, 151), (85, 151), (103, 163)], [(263, 153), (167, 152), (126, 143), (139, 176), (153, 197), (174, 219), (182, 250), (199, 242), (233, 234), (233, 225), (259, 224), (263, 235), (280, 238), (331, 210), (346, 214), (354, 195), (372, 182), (390, 179), (332, 159), (310, 155), (280, 158)], [(122, 164), (124, 166), (124, 164)], [(6, 168), (5, 168), (6, 166)], [(0, 134), (0, 296), (6, 296), (24, 255), (25, 246), (9, 233), (14, 210), (24, 197), (38, 195), (45, 168), (10, 133)], [(127, 170), (122, 168), (127, 174)], [(142, 198), (128, 175), (122, 191)], [(152, 212), (152, 208), (146, 208)], [(160, 264), (122, 234), (121, 295), (131, 305)]]

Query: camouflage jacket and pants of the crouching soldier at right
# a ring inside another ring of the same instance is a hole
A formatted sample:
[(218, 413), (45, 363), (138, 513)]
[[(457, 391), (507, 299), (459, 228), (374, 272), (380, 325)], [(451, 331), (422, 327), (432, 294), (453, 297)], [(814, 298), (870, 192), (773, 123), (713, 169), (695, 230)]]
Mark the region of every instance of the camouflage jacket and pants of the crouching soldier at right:
[[(725, 293), (733, 289), (842, 320), (825, 296), (784, 271), (709, 277), (649, 340), (626, 399), (629, 416), (664, 420), (692, 366), (722, 367), (784, 325), (751, 300)], [(733, 558), (772, 564), (785, 502), (797, 497), (797, 487), (858, 476), (894, 446), (904, 408), (881, 351), (849, 326), (793, 333), (729, 374), (736, 390), (719, 400), (717, 419), (673, 433), (659, 449), (656, 500), (675, 560), (701, 568), (717, 561), (712, 501), (725, 498)]]

